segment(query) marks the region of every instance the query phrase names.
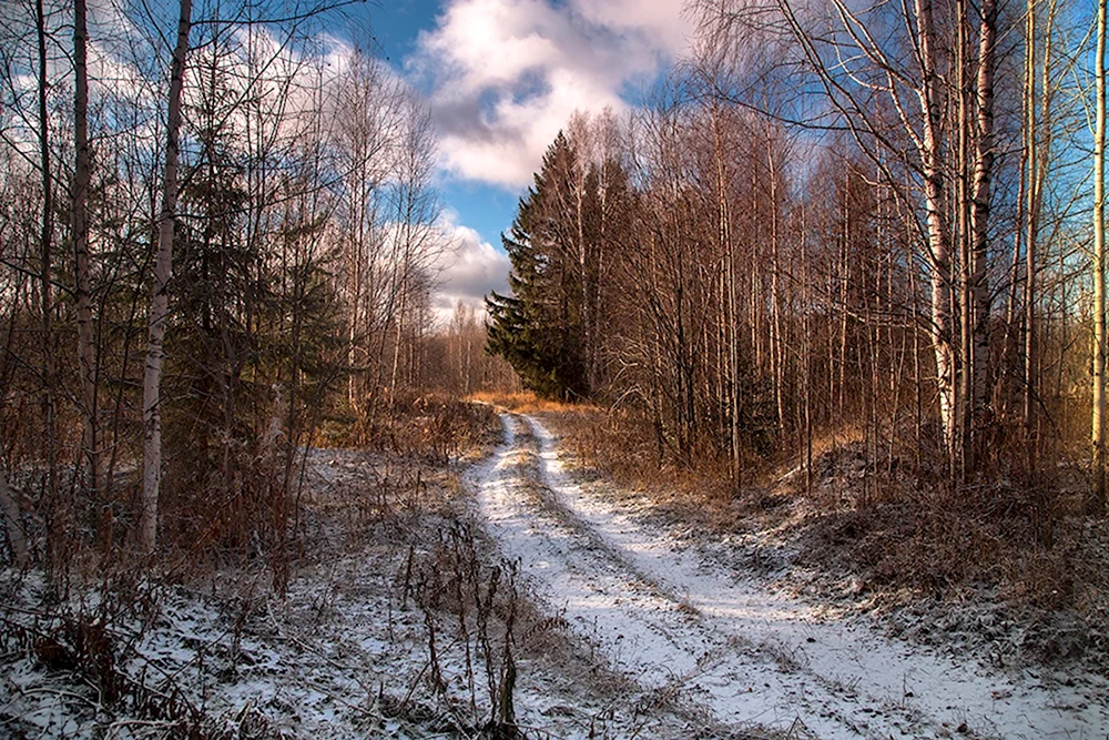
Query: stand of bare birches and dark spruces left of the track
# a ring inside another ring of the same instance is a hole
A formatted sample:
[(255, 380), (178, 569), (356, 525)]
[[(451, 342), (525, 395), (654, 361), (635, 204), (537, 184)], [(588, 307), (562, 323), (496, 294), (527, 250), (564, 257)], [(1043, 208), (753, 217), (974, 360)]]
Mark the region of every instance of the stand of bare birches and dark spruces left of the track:
[(33, 470), (3, 487), (11, 551), (281, 541), (334, 409), (365, 436), (413, 388), (497, 382), (472, 311), (433, 331), (429, 113), (327, 45), (337, 8), (94, 10), (4, 11), (2, 444)]

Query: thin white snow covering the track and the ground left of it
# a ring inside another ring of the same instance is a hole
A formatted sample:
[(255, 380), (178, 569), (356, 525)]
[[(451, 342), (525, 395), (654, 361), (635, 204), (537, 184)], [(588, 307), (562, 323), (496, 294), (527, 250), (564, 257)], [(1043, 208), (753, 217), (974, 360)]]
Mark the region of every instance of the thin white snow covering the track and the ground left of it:
[[(1109, 729), (1100, 679), (1005, 672), (830, 615), (728, 558), (728, 544), (691, 545), (696, 538), (645, 516), (625, 491), (576, 479), (539, 420), (501, 420), (503, 442), (465, 473), (461, 489), (430, 484), (459, 500), (426, 494), (414, 499), (418, 514), (380, 494), (396, 460), (311, 453), (304, 526), (314, 550), (287, 599), (268, 594), (263, 564), (145, 584), (139, 601), (156, 608), (145, 618), (119, 609), (111, 621), (116, 667), (151, 689), (180, 691), (207, 729), (237, 732), (253, 722), (266, 737), (314, 740), (474, 733), (490, 708), (472, 631), (460, 635), (457, 614), (426, 612), (398, 586), (409, 548), (428, 558), (439, 529), (466, 520), (469, 507), (485, 533), (482, 567), (502, 556), (525, 576), (530, 604), (517, 624), (516, 710), (529, 737), (752, 730), (1100, 740)], [(75, 584), (62, 611), (95, 614), (99, 582)], [(45, 627), (37, 606), (43, 591), (40, 574), (0, 574), (0, 618)], [(428, 614), (442, 690), (429, 679)], [(6, 733), (151, 738), (166, 724), (105, 707), (88, 681), (9, 642), (0, 657)]]

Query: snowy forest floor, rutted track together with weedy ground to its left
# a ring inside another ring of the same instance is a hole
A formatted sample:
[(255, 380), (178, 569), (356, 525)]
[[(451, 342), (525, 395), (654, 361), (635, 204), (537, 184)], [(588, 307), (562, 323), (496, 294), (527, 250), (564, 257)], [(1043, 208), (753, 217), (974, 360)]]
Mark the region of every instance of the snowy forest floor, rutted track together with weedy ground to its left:
[(0, 736), (1109, 731), (1105, 671), (1011, 659), (1016, 628), (981, 599), (863, 608), (795, 528), (721, 536), (586, 466), (552, 432), (564, 416), (485, 420), (448, 460), (313, 450), (285, 598), (265, 554), (111, 587), (74, 574), (50, 607), (39, 574), (3, 571)]

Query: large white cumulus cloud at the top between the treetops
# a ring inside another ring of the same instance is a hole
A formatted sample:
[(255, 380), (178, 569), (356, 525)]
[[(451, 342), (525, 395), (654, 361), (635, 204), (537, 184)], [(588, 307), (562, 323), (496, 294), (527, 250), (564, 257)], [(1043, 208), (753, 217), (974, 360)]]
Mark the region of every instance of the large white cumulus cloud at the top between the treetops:
[(685, 47), (682, 0), (448, 0), (408, 72), (430, 89), (445, 169), (517, 189), (574, 110), (625, 108)]

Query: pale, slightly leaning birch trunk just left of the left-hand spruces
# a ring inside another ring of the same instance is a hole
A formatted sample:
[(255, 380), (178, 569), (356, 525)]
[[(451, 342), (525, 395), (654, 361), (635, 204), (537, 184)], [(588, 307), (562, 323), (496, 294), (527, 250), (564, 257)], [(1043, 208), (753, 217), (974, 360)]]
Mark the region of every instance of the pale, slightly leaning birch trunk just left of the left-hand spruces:
[(165, 170), (162, 209), (157, 223), (157, 256), (154, 262), (154, 288), (150, 303), (150, 334), (143, 373), (143, 486), (139, 518), (139, 547), (151, 553), (157, 544), (157, 499), (162, 483), (162, 410), (159, 394), (162, 385), (162, 358), (165, 320), (169, 314), (169, 283), (172, 275), (173, 225), (177, 211), (177, 159), (180, 154), (182, 89), (189, 32), (192, 28), (192, 0), (181, 0), (177, 41), (170, 68), (170, 99), (165, 128)]

